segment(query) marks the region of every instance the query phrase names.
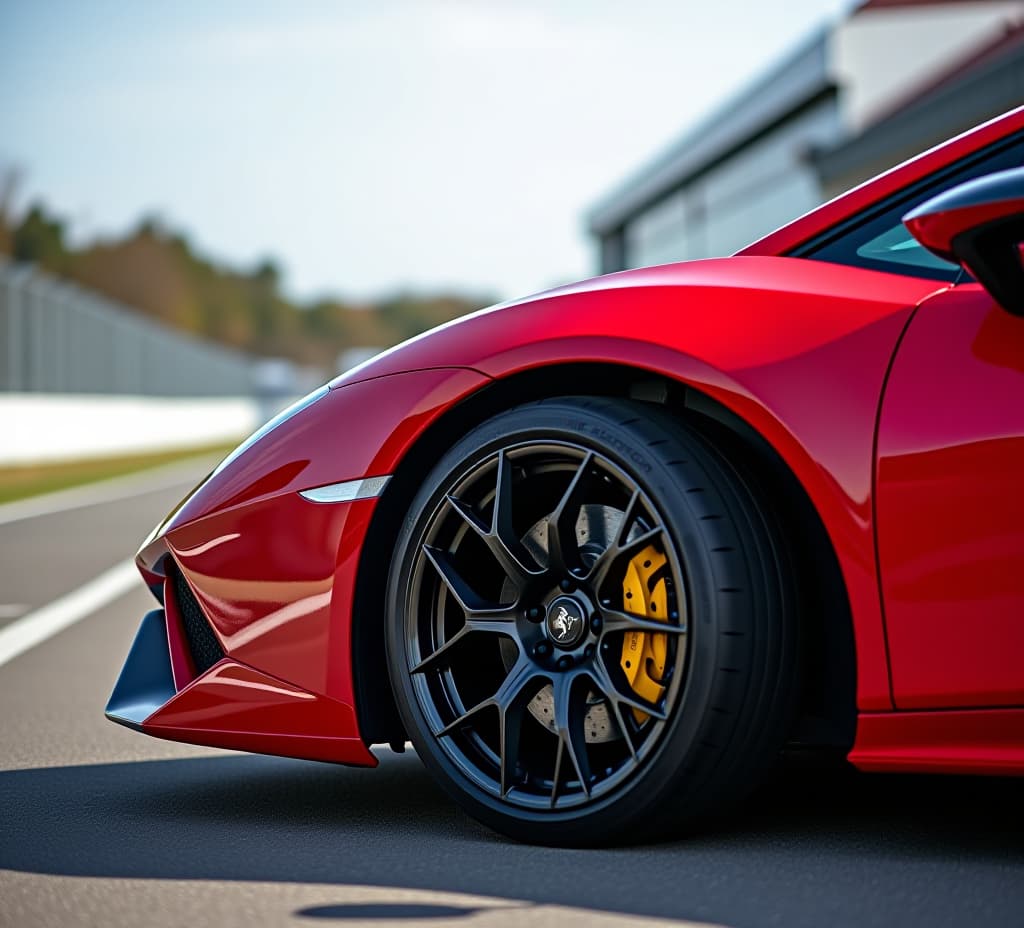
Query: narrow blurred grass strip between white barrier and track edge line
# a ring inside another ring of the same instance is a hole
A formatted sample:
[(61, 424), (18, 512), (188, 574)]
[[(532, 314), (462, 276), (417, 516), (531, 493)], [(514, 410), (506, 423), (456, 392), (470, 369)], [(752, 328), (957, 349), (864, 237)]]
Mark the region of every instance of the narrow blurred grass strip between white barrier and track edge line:
[(61, 461), (56, 464), (30, 464), (0, 467), (0, 503), (24, 500), (55, 490), (68, 490), (135, 473), (161, 464), (171, 464), (199, 455), (223, 457), (238, 441), (204, 445), (175, 451), (119, 455), (113, 458), (89, 458), (82, 461)]

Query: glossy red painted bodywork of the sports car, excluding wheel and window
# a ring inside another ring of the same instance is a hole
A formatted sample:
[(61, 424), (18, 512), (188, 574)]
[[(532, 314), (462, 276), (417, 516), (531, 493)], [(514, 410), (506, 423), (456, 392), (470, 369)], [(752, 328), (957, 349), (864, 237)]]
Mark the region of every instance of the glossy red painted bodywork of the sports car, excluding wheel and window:
[[(163, 608), (109, 715), (178, 741), (375, 764), (360, 700), (387, 699), (374, 603), (382, 509), (398, 504), (390, 489), (331, 504), (300, 492), (421, 467), (431, 440), (542, 375), (572, 392), (604, 372), (725, 411), (799, 484), (852, 628), (854, 764), (1024, 772), (1024, 320), (975, 283), (793, 256), (1022, 131), (1024, 108), (738, 255), (482, 310), (336, 379), (143, 545)], [(206, 669), (172, 573), (222, 655)]]

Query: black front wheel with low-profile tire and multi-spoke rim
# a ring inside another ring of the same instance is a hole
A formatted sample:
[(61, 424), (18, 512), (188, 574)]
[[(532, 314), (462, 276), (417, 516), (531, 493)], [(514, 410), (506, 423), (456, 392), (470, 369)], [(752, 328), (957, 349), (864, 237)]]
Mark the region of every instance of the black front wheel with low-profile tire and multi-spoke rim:
[[(792, 720), (798, 620), (751, 486), (691, 426), (622, 399), (521, 406), (441, 458), (395, 545), (388, 665), (417, 752), (471, 815), (532, 843), (635, 843), (757, 784)], [(671, 620), (637, 621), (618, 579), (648, 538), (666, 560), (646, 588)], [(641, 632), (666, 655), (656, 699), (625, 676)]]

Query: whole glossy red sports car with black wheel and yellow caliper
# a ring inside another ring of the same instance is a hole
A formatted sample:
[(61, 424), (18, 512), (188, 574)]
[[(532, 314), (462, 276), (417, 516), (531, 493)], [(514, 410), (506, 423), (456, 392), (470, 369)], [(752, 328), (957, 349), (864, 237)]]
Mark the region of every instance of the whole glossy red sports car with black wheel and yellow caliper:
[(1024, 108), (311, 393), (142, 546), (106, 714), (638, 840), (790, 745), (1024, 772)]

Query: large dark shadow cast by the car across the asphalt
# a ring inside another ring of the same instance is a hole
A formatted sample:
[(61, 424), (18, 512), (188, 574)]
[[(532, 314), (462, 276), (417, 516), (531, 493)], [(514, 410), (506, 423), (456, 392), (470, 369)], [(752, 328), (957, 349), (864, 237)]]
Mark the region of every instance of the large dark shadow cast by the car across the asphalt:
[[(245, 755), (41, 768), (0, 773), (0, 868), (437, 889), (732, 926), (978, 928), (1022, 923), (1020, 794), (1013, 779), (798, 767), (714, 830), (567, 851), (485, 831), (412, 754), (376, 770)], [(346, 918), (333, 908), (297, 914)]]

